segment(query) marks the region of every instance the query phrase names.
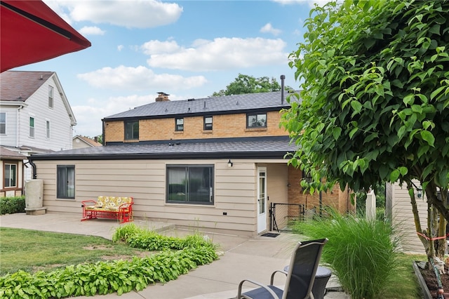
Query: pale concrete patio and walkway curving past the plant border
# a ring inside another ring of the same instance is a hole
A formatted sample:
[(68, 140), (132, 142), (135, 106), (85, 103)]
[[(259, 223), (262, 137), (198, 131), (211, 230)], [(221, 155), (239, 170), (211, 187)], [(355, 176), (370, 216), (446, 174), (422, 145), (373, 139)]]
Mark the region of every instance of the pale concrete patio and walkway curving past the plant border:
[[(81, 214), (46, 213), (44, 215), (26, 215), (16, 213), (0, 216), (0, 227), (15, 227), (48, 232), (65, 232), (84, 234), (111, 239), (119, 223), (115, 220), (98, 219), (80, 221)], [(175, 225), (165, 222), (149, 222), (135, 219), (135, 224), (172, 236), (182, 237), (192, 231), (177, 230)], [(210, 265), (203, 265), (178, 279), (166, 284), (149, 285), (145, 290), (125, 293), (123, 299), (228, 299), (235, 298), (237, 286), (242, 279), (252, 279), (268, 284), (274, 270), (281, 270), (288, 265), (291, 251), (299, 236), (281, 233), (278, 237), (239, 237), (227, 234), (204, 232), (224, 252), (219, 260)], [(285, 278), (276, 276), (275, 283), (283, 286)], [(337, 287), (337, 280), (331, 277), (328, 287)], [(251, 287), (248, 285), (248, 287)], [(78, 297), (88, 299), (92, 297)], [(96, 295), (95, 298), (117, 298), (116, 293)], [(347, 299), (342, 292), (331, 291), (326, 299)]]

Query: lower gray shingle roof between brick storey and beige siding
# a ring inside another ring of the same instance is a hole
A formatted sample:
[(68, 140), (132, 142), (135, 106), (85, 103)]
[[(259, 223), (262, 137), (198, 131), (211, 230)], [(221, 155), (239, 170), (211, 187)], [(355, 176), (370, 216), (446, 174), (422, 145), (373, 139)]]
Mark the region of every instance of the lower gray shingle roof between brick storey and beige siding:
[(165, 140), (139, 144), (84, 147), (51, 154), (33, 154), (31, 160), (115, 159), (283, 159), (297, 147), (288, 136)]

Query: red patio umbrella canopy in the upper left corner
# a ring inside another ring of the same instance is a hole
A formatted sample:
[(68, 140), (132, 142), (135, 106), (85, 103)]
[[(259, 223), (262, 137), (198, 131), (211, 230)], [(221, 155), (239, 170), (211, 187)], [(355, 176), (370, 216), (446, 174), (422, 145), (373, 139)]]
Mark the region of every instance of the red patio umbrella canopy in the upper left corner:
[(41, 0), (1, 0), (0, 4), (1, 72), (91, 46)]

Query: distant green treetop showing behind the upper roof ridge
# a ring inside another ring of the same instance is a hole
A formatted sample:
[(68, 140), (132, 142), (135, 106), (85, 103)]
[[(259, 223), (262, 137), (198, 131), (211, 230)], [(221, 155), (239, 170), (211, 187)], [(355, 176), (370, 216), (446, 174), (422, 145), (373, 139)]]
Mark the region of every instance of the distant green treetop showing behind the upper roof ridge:
[(213, 97), (222, 95), (241, 95), (244, 93), (268, 93), (270, 91), (281, 91), (281, 85), (274, 78), (260, 77), (255, 78), (245, 74), (239, 74), (239, 77), (226, 86), (225, 90), (213, 93)]

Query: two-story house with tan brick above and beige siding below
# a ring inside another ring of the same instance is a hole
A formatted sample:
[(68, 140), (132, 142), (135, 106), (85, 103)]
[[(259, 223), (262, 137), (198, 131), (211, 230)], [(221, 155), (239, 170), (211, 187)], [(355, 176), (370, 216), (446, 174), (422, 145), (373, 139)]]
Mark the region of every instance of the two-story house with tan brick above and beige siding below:
[[(232, 234), (270, 229), (269, 207), (352, 209), (349, 192), (310, 196), (279, 126), (282, 92), (155, 102), (102, 119), (103, 147), (36, 154), (47, 211), (81, 213), (80, 201), (134, 197), (134, 215)], [(287, 212), (277, 225), (286, 222)]]

